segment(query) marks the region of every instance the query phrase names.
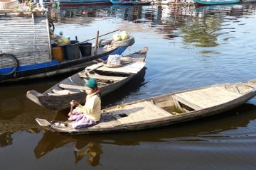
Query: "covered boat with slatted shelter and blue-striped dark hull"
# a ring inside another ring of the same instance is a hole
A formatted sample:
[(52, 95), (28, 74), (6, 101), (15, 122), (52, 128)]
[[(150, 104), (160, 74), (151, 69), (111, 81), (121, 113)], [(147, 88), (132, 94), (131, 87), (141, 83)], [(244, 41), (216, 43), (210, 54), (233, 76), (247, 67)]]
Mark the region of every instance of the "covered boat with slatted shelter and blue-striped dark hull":
[(108, 50), (100, 47), (97, 54), (92, 50), (92, 55), (82, 57), (76, 43), (58, 47), (59, 52), (64, 51), (63, 60), (58, 60), (52, 53), (47, 15), (36, 16), (33, 12), (17, 15), (21, 12), (0, 11), (0, 84), (78, 72), (88, 61), (105, 59), (110, 54), (121, 55), (129, 46)]

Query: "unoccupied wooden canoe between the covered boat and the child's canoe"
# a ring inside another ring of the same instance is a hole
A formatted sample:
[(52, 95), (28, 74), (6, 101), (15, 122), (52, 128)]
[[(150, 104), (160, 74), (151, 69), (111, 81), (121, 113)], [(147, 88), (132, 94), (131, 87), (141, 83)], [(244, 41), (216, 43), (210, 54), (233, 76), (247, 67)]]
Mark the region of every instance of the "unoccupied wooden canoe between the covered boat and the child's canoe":
[(139, 74), (145, 66), (147, 51), (148, 48), (144, 47), (139, 52), (128, 55), (132, 58), (132, 62), (123, 64), (122, 67), (118, 68), (108, 68), (102, 66), (102, 63), (93, 64), (90, 67), (86, 67), (82, 72), (60, 81), (43, 94), (32, 90), (28, 91), (26, 96), (44, 108), (63, 110), (70, 108), (71, 100), (85, 103), (85, 87), (82, 85), (89, 78), (97, 79), (101, 96), (105, 96), (127, 83), (136, 74)]

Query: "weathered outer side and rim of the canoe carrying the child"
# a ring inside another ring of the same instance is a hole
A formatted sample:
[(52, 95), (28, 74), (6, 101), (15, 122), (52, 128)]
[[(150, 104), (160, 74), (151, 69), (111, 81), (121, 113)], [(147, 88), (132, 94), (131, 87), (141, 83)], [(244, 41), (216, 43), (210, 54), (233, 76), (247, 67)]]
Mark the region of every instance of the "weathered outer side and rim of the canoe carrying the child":
[[(244, 85), (245, 85), (245, 83), (246, 82), (242, 82), (242, 84), (244, 84)], [(154, 100), (155, 98), (163, 98), (163, 97), (166, 97), (166, 96), (173, 96), (175, 94), (181, 94), (181, 93), (186, 92), (186, 91), (194, 91), (194, 90), (198, 90), (198, 89), (207, 89), (208, 87), (222, 86), (222, 85), (227, 85), (227, 84), (228, 85), (230, 85), (230, 84), (241, 84), (241, 82), (215, 84), (215, 85), (205, 86), (205, 87), (201, 87), (201, 88), (197, 88), (197, 89), (188, 89), (188, 90), (185, 90), (185, 91), (177, 91), (177, 92), (170, 93), (170, 94), (164, 94), (164, 95), (161, 95), (161, 96), (156, 96), (156, 97), (146, 98), (146, 99), (139, 100), (139, 101), (126, 103), (125, 106), (126, 105), (131, 105), (131, 104), (134, 104), (134, 103), (140, 103), (140, 102), (143, 102), (143, 101), (151, 101), (152, 99)], [(130, 130), (142, 130), (142, 129), (146, 129), (146, 128), (157, 128), (157, 127), (161, 127), (161, 126), (165, 126), (165, 125), (173, 125), (173, 124), (176, 124), (176, 123), (186, 122), (188, 120), (191, 120), (191, 117), (193, 117), (192, 120), (196, 120), (196, 119), (198, 119), (198, 117), (199, 118), (205, 118), (205, 117), (208, 117), (208, 116), (211, 116), (211, 115), (216, 115), (218, 113), (223, 113), (223, 112), (228, 111), (232, 108), (236, 108), (236, 107), (242, 105), (243, 103), (245, 103), (246, 101), (249, 101), (251, 98), (253, 98), (255, 96), (256, 96), (256, 90), (254, 88), (252, 88), (251, 91), (249, 91), (245, 94), (241, 94), (241, 96), (238, 96), (238, 98), (234, 98), (231, 101), (221, 103), (220, 105), (211, 106), (211, 107), (208, 107), (208, 108), (202, 108), (200, 110), (190, 111), (188, 113), (181, 113), (181, 114), (178, 114), (178, 115), (171, 115), (171, 113), (170, 113), (170, 116), (167, 116), (167, 117), (164, 117), (164, 118), (156, 118), (156, 119), (153, 119), (153, 120), (142, 120), (142, 121), (138, 121), (138, 122), (135, 122), (135, 123), (125, 123), (125, 124), (120, 124), (119, 123), (119, 124), (114, 125), (110, 128), (86, 128), (86, 130), (72, 130), (71, 131), (71, 130), (65, 130), (65, 129), (51, 127), (51, 128), (48, 128), (48, 130), (51, 130), (53, 132), (60, 132), (60, 133), (63, 133), (63, 134), (79, 135), (79, 134), (93, 134), (93, 133), (103, 133), (103, 132), (118, 132), (118, 131), (126, 131), (127, 129), (130, 131)], [(116, 107), (117, 106), (112, 106), (110, 108), (103, 109), (102, 111), (105, 111), (105, 113), (103, 112), (103, 114), (111, 114), (111, 113), (107, 113), (107, 110), (111, 110), (112, 108), (116, 108)], [(206, 112), (209, 112), (209, 113), (206, 114)], [(186, 118), (184, 119), (184, 117), (186, 117)], [(174, 121), (170, 122), (170, 120), (174, 120)], [(154, 125), (154, 124), (156, 124), (156, 125)], [(142, 128), (139, 128), (140, 125), (141, 125)], [(146, 125), (148, 125), (148, 126), (144, 127)]]

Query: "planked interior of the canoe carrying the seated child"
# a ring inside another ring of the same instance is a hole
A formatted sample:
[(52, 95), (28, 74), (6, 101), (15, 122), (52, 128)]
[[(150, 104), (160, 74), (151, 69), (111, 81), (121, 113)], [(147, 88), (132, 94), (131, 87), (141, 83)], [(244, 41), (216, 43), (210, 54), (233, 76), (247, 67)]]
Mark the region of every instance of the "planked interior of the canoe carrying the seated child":
[[(209, 86), (120, 105), (105, 112), (121, 124), (155, 120), (218, 106), (247, 94), (255, 87), (256, 81)], [(102, 127), (101, 124), (98, 126)]]

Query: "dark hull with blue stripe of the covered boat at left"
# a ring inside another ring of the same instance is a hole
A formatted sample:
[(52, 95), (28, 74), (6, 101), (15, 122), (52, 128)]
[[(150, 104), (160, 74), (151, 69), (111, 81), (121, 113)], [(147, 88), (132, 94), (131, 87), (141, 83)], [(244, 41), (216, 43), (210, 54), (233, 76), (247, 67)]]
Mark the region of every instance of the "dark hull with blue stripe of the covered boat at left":
[(81, 69), (85, 68), (89, 64), (92, 64), (90, 61), (97, 60), (101, 57), (106, 57), (110, 54), (121, 55), (127, 47), (117, 47), (114, 50), (108, 52), (100, 52), (98, 55), (91, 57), (82, 57), (76, 60), (70, 60), (66, 62), (61, 62), (59, 64), (50, 65), (48, 67), (41, 67), (37, 69), (28, 69), (24, 71), (17, 71), (14, 75), (0, 76), (0, 83), (12, 82), (12, 81), (21, 81), (26, 79), (38, 79), (43, 77), (50, 77), (58, 74), (78, 72)]

